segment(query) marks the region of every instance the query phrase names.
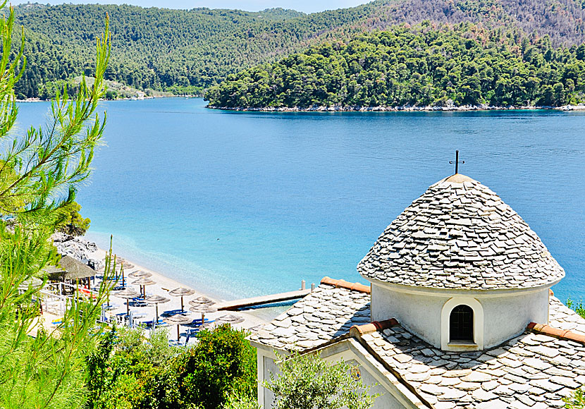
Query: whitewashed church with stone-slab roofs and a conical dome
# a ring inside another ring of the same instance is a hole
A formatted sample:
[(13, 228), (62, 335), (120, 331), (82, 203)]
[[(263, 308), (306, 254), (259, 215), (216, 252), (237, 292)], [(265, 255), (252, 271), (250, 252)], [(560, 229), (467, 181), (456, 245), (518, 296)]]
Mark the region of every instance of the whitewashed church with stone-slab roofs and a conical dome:
[(565, 271), (492, 190), (460, 173), (426, 190), (359, 262), (250, 336), (261, 386), (275, 350), (357, 365), (374, 408), (546, 409), (585, 384), (585, 319)]

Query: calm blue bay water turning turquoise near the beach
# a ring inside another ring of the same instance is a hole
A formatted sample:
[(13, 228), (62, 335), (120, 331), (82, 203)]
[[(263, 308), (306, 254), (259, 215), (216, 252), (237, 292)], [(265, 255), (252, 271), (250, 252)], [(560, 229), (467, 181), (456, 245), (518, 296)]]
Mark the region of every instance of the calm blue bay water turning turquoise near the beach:
[[(21, 104), (20, 124), (48, 104)], [(89, 238), (221, 298), (290, 291), (355, 269), (383, 229), (453, 173), (488, 185), (585, 300), (585, 114), (234, 113), (202, 99), (106, 102), (106, 143), (80, 190)]]

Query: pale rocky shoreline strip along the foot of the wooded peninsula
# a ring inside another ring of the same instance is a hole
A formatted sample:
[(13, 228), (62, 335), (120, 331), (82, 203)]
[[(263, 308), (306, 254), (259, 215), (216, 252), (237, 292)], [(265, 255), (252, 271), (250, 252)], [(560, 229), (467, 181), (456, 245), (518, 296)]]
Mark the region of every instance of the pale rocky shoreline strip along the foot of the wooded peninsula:
[(295, 106), (247, 108), (228, 106), (209, 106), (209, 109), (222, 111), (250, 111), (250, 112), (454, 112), (454, 111), (531, 111), (536, 109), (548, 109), (555, 111), (585, 111), (585, 104), (564, 106), (490, 106), (490, 105), (464, 105), (464, 106), (312, 106), (299, 108)]

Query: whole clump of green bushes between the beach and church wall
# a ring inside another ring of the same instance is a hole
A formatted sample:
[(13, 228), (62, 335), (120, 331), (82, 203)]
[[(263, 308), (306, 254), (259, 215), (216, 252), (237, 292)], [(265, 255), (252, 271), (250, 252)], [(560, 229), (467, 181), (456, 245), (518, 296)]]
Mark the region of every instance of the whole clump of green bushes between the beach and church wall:
[(166, 329), (112, 329), (88, 358), (87, 409), (221, 408), (253, 402), (255, 350), (228, 325), (198, 334), (190, 349), (168, 346)]

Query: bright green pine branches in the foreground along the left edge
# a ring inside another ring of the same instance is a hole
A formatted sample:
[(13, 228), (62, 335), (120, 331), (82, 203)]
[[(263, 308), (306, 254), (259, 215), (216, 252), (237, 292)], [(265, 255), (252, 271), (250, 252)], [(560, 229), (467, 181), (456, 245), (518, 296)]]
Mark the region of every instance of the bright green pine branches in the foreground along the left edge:
[(11, 8), (0, 20), (0, 407), (74, 408), (85, 401), (85, 357), (101, 332), (96, 319), (111, 288), (113, 266), (106, 260), (96, 298), (77, 294), (61, 324), (50, 330), (38, 324), (42, 295), (32, 279), (46, 282), (42, 268), (54, 259), (49, 236), (89, 175), (103, 134), (96, 109), (104, 93), (109, 28), (106, 20), (97, 41), (94, 86), (82, 83), (74, 95), (61, 90), (47, 126), (20, 135), (12, 128), (18, 114), (14, 87), (25, 68), (24, 39), (12, 52), (13, 25)]

